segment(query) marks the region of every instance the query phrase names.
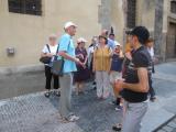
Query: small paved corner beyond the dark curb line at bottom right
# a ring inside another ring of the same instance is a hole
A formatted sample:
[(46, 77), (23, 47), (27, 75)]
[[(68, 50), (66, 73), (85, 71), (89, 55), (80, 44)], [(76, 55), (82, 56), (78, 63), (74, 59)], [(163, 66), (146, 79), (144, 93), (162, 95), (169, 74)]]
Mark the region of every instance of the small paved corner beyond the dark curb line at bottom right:
[(154, 132), (176, 132), (176, 116)]

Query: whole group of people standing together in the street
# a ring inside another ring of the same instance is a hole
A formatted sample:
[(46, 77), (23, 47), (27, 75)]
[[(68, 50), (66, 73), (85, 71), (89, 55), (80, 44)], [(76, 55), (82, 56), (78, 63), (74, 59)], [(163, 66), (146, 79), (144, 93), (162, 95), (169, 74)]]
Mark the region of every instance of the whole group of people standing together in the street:
[[(65, 34), (57, 42), (55, 34), (50, 35), (48, 44), (42, 56), (57, 55), (64, 58), (63, 76), (52, 74), (50, 64), (45, 64), (45, 97), (51, 96), (51, 81), (54, 78), (54, 94), (61, 96), (59, 113), (64, 121), (79, 119), (72, 112), (72, 90), (75, 85), (76, 95), (84, 94), (84, 84), (92, 79), (97, 90), (97, 99), (113, 96), (113, 103), (123, 109), (123, 120), (112, 127), (114, 131), (139, 132), (141, 120), (147, 110), (147, 98), (156, 99), (152, 87), (154, 72), (153, 38), (144, 26), (136, 26), (127, 32), (124, 53), (122, 45), (114, 40), (111, 29), (103, 30), (94, 36), (86, 48), (87, 40), (79, 37), (75, 48), (73, 36), (77, 25), (66, 22)], [(59, 88), (59, 89), (58, 89)], [(123, 108), (122, 108), (123, 106)]]

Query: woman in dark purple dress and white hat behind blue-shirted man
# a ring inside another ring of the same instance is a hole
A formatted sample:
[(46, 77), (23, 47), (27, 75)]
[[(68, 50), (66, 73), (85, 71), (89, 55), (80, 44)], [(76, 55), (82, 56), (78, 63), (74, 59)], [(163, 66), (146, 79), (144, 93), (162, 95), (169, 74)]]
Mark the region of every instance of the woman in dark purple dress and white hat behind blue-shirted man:
[[(85, 43), (87, 41), (84, 37), (77, 40), (77, 47), (75, 51), (76, 57), (79, 58), (84, 65), (87, 64), (87, 51), (85, 48)], [(76, 95), (84, 92), (84, 81), (88, 79), (88, 70), (80, 65), (77, 65), (77, 72), (74, 73), (74, 81), (76, 84)]]

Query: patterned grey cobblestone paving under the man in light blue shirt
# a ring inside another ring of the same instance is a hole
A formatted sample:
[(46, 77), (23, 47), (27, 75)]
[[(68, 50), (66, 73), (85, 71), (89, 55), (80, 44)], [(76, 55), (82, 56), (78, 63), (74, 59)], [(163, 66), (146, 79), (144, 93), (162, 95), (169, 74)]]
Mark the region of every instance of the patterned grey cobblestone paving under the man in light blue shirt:
[(59, 98), (43, 92), (0, 101), (0, 132), (111, 132), (121, 112), (111, 99), (97, 100), (95, 90), (73, 95), (73, 111), (80, 117), (75, 123), (63, 123), (58, 114)]

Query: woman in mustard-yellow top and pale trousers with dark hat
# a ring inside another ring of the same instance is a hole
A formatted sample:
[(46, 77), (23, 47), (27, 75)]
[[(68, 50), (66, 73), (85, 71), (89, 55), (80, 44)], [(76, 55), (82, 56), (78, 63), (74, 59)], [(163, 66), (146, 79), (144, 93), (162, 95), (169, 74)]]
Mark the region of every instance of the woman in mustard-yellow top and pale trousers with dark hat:
[(106, 99), (110, 94), (110, 59), (111, 48), (107, 46), (108, 40), (106, 36), (99, 36), (99, 45), (94, 53), (94, 72), (96, 73), (97, 97)]

